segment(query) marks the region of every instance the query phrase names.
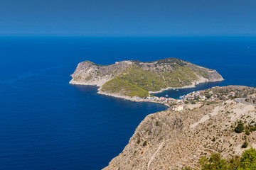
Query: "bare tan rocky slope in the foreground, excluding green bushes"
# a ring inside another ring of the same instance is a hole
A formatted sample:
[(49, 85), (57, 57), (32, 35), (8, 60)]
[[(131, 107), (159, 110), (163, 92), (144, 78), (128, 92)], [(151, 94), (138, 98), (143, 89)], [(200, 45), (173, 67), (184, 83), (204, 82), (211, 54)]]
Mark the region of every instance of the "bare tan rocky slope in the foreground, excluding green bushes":
[[(107, 169), (181, 169), (199, 167), (201, 156), (221, 152), (223, 158), (240, 155), (245, 133), (234, 131), (243, 120), (250, 125), (256, 120), (254, 106), (225, 101), (180, 112), (162, 111), (146, 116), (129, 144), (112, 159)], [(213, 140), (213, 138), (215, 140)], [(256, 132), (247, 136), (256, 146)]]

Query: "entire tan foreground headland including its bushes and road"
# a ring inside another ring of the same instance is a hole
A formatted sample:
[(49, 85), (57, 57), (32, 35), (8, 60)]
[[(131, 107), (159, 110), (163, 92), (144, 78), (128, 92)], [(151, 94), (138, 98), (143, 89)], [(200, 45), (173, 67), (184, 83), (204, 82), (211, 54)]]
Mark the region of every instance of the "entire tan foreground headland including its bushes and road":
[(216, 96), (219, 102), (198, 98), (183, 111), (147, 115), (103, 170), (255, 169), (256, 150), (250, 147), (256, 147), (256, 88), (213, 87), (188, 97), (196, 94)]

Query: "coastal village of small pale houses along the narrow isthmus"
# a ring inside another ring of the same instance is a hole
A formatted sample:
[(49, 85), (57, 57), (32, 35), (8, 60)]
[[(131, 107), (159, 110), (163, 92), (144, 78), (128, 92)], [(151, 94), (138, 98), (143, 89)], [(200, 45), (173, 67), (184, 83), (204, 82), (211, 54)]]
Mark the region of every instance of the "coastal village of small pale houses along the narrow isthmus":
[[(231, 91), (229, 96), (235, 96), (235, 92)], [(214, 94), (213, 91), (193, 91), (189, 94), (180, 96), (176, 98), (166, 98), (166, 97), (157, 97), (157, 96), (148, 96), (146, 98), (140, 98), (139, 96), (132, 97), (132, 101), (146, 101), (161, 103), (166, 106), (169, 106), (171, 111), (183, 111), (185, 108), (193, 108), (196, 106), (201, 106), (203, 104), (218, 103), (220, 98), (217, 94)]]

